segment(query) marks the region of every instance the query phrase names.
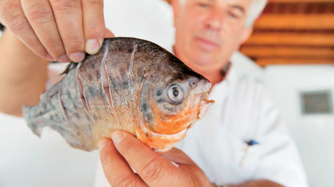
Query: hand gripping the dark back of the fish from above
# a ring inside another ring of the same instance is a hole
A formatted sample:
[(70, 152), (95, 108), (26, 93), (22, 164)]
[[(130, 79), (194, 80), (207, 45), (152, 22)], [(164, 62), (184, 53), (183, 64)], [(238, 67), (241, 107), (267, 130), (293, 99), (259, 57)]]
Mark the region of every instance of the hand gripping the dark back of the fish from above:
[(103, 0), (2, 0), (0, 22), (49, 61), (80, 62), (114, 37), (105, 28)]

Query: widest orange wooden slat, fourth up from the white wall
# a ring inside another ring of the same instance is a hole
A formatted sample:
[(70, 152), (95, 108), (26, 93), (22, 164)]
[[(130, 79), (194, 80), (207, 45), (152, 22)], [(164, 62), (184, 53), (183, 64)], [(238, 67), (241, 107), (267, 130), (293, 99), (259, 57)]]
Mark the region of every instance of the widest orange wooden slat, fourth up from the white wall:
[(265, 14), (255, 24), (258, 29), (334, 29), (334, 14)]

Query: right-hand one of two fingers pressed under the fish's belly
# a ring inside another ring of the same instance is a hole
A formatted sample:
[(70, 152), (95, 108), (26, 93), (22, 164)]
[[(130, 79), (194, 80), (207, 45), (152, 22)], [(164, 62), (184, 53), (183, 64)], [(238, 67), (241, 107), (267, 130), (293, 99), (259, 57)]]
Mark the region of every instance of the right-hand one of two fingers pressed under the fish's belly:
[(118, 152), (147, 185), (179, 186), (182, 182), (182, 185), (190, 186), (183, 183), (189, 181), (183, 180), (187, 179), (188, 175), (181, 172), (169, 160), (153, 152), (133, 135), (117, 130), (113, 132), (112, 139)]

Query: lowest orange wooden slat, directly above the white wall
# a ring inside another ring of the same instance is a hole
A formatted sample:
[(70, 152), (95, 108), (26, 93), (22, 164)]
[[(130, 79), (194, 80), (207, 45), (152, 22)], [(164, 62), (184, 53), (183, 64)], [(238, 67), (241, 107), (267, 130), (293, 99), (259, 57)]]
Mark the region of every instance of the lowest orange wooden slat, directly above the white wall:
[(267, 65), (287, 64), (333, 64), (334, 58), (258, 58), (256, 63), (262, 67)]

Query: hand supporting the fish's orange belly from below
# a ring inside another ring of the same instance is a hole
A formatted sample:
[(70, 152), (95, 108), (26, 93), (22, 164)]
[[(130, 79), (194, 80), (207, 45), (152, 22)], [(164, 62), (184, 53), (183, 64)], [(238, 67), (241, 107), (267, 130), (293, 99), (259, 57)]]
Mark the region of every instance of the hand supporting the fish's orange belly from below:
[(204, 172), (176, 148), (158, 155), (124, 131), (114, 131), (112, 139), (102, 138), (98, 147), (104, 173), (113, 187), (214, 186)]

